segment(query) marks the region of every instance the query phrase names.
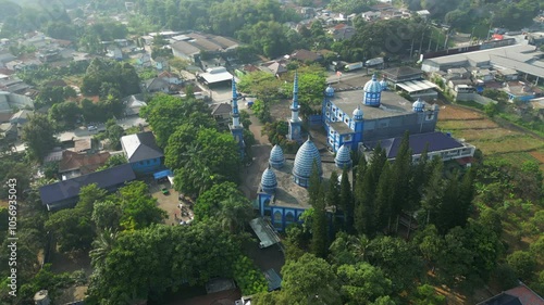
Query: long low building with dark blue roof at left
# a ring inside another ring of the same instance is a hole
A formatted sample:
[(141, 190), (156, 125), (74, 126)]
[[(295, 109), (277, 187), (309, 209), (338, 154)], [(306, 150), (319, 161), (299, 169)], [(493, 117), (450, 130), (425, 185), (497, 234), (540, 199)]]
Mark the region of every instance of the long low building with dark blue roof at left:
[(79, 190), (85, 186), (96, 183), (100, 189), (114, 192), (134, 179), (136, 175), (131, 165), (123, 164), (44, 186), (39, 188), (39, 195), (41, 204), (46, 205), (48, 211), (57, 211), (74, 206), (79, 200)]

